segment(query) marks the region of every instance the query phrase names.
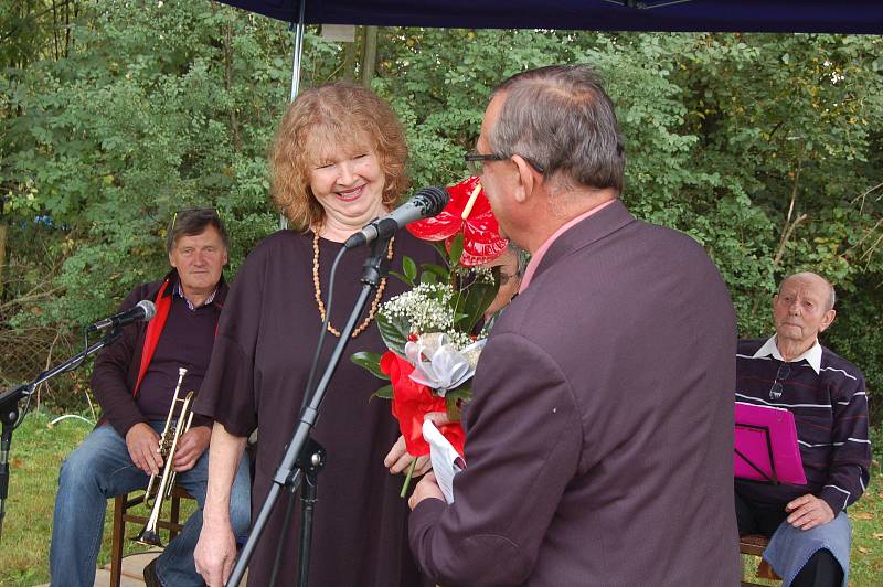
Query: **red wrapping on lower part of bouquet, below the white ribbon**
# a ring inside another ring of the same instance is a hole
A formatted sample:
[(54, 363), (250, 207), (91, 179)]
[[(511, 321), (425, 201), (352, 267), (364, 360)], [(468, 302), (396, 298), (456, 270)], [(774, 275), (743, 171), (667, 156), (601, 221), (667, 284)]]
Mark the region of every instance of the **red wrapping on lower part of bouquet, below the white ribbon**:
[[(429, 445), (423, 439), (423, 419), (430, 412), (445, 412), (445, 398), (433, 395), (429, 387), (408, 377), (414, 365), (392, 351), (383, 353), (380, 369), (390, 376), (393, 385), (393, 416), (398, 419), (408, 453), (412, 457), (428, 455)], [(460, 423), (446, 424), (439, 430), (462, 456), (466, 437)]]

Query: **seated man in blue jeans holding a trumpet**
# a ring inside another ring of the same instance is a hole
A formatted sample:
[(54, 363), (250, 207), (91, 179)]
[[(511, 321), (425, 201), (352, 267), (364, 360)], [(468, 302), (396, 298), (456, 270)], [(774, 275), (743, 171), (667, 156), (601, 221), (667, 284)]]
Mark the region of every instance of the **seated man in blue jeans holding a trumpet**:
[[(196, 498), (200, 509), (145, 568), (145, 581), (148, 586), (202, 585), (193, 548), (202, 527), (212, 423), (194, 415), (190, 428), (177, 439), (168, 467), (160, 436), (167, 419), (175, 419), (183, 404), (175, 402), (178, 392), (180, 398), (199, 392), (209, 366), (227, 294), (222, 276), (227, 235), (214, 210), (193, 209), (174, 215), (166, 245), (172, 270), (159, 281), (135, 288), (120, 306), (128, 310), (139, 300), (149, 300), (156, 305), (156, 317), (125, 327), (123, 337), (95, 361), (92, 389), (104, 415), (58, 474), (50, 553), (53, 586), (94, 584), (107, 499), (146, 488), (151, 477), (153, 485), (159, 485), (167, 468)], [(231, 523), (243, 540), (249, 502), (248, 461), (243, 457), (230, 506)]]

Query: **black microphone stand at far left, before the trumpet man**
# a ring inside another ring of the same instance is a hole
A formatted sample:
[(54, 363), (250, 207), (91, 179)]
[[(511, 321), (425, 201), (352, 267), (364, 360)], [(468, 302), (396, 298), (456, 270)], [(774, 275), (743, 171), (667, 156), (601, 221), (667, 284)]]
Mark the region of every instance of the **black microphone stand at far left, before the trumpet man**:
[(7, 389), (0, 394), (0, 420), (2, 420), (3, 424), (3, 431), (2, 435), (0, 435), (0, 540), (3, 536), (3, 517), (6, 517), (6, 502), (9, 495), (9, 447), (12, 444), (12, 431), (15, 429), (17, 423), (19, 421), (19, 401), (23, 397), (30, 399), (41, 383), (54, 377), (58, 373), (73, 371), (78, 367), (87, 356), (98, 352), (108, 344), (113, 344), (121, 335), (123, 332), (118, 328), (115, 328), (102, 340), (86, 346), (83, 352), (72, 356), (60, 365), (44, 371), (31, 383), (19, 385), (14, 389)]

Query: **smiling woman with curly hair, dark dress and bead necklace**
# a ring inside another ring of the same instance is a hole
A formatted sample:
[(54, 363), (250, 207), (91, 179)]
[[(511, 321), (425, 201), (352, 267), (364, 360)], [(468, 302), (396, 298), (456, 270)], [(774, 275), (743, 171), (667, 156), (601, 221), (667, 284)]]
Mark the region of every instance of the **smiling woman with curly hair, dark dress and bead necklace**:
[[(331, 262), (341, 244), (391, 210), (408, 188), (404, 132), (392, 108), (351, 84), (308, 89), (288, 107), (270, 154), (276, 206), (292, 230), (264, 239), (245, 260), (227, 298), (209, 373), (196, 403), (211, 416), (209, 494), (196, 567), (209, 585), (226, 581), (236, 554), (227, 520), (234, 463), (258, 426), (254, 513), (259, 511), (295, 429), (316, 341), (326, 317)], [(364, 252), (365, 249), (361, 249)], [(435, 260), (434, 250), (400, 232), (387, 248), (393, 270), (402, 258)], [(364, 254), (343, 256), (321, 350), (326, 364), (359, 295)], [(347, 354), (383, 352), (374, 316), (401, 294), (391, 279), (357, 322)], [(370, 402), (377, 382), (350, 361), (340, 362), (312, 437), (328, 451), (319, 476), (309, 562), (311, 585), (413, 586), (422, 579), (407, 545), (407, 504), (401, 480), (384, 468), (398, 437), (389, 405)], [(265, 527), (248, 583), (268, 585), (284, 540), (280, 585), (297, 573), (298, 506), (283, 527), (286, 492)]]

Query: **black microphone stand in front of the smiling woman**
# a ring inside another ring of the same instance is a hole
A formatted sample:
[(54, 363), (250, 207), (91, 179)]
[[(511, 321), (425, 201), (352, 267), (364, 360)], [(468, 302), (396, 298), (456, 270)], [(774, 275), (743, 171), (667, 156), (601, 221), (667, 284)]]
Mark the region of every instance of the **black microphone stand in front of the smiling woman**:
[[(352, 331), (355, 330), (357, 320), (362, 314), (362, 311), (368, 305), (370, 297), (377, 289), (381, 279), (389, 271), (389, 260), (386, 259), (386, 249), (389, 243), (390, 237), (387, 236), (377, 238), (371, 245), (371, 255), (362, 265), (362, 290), (359, 292), (355, 305), (350, 312), (350, 318), (347, 321), (347, 325), (341, 330), (340, 338), (338, 339), (337, 345), (331, 353), (331, 357), (328, 360), (325, 373), (322, 374), (321, 380), (319, 380), (316, 391), (312, 392), (309, 403), (300, 413), (299, 421), (295, 428), (294, 435), (291, 436), (291, 440), (288, 442), (285, 456), (283, 457), (279, 467), (276, 469), (276, 474), (273, 477), (273, 484), (270, 485), (269, 492), (264, 500), (264, 504), (260, 506), (260, 512), (255, 519), (254, 526), (252, 526), (252, 531), (248, 534), (248, 542), (246, 542), (245, 546), (243, 546), (242, 554), (236, 561), (236, 565), (233, 567), (233, 573), (230, 575), (230, 579), (226, 584), (227, 587), (238, 587), (240, 583), (242, 581), (242, 578), (245, 575), (245, 569), (248, 567), (248, 562), (252, 559), (252, 555), (257, 546), (257, 542), (260, 540), (260, 535), (267, 525), (276, 502), (279, 500), (283, 489), (289, 488), (289, 491), (294, 493), (298, 487), (301, 489), (301, 502), (305, 504), (305, 506), (301, 508), (300, 521), (298, 585), (300, 585), (300, 587), (307, 587), (308, 585), (307, 581), (309, 576), (310, 554), (309, 543), (312, 535), (313, 521), (312, 504), (316, 501), (318, 473), (321, 470), (323, 466), (322, 461), (325, 460), (325, 450), (310, 438), (310, 431), (312, 430), (312, 427), (316, 425), (316, 420), (319, 417), (319, 407), (325, 398), (331, 376), (334, 374), (334, 371), (340, 363), (340, 357), (342, 356), (347, 344), (350, 342)], [(310, 391), (307, 389), (307, 394), (309, 393)], [(305, 476), (308, 478), (308, 487), (304, 487), (302, 478)], [(285, 532), (285, 529), (283, 532)], [(277, 558), (276, 564), (278, 563), (279, 561)], [(276, 575), (275, 570), (273, 575)]]

